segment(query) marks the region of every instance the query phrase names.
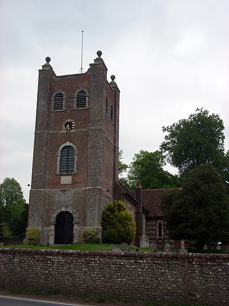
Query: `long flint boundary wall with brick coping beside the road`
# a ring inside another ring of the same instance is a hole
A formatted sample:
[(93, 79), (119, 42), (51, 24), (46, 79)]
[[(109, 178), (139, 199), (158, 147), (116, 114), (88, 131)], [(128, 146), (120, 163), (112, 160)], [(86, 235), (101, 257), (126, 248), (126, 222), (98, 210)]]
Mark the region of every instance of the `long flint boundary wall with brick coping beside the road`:
[(135, 300), (229, 303), (228, 254), (0, 248), (2, 288)]

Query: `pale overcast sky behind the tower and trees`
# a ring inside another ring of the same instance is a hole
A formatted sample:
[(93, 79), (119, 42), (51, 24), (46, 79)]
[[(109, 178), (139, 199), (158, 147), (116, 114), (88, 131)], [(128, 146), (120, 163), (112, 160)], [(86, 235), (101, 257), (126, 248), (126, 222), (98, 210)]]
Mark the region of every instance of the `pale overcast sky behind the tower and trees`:
[(219, 114), (228, 150), (228, 29), (228, 0), (0, 0), (0, 183), (28, 200), (38, 69), (49, 56), (56, 75), (77, 73), (82, 30), (84, 70), (101, 50), (116, 75), (124, 163), (197, 107)]

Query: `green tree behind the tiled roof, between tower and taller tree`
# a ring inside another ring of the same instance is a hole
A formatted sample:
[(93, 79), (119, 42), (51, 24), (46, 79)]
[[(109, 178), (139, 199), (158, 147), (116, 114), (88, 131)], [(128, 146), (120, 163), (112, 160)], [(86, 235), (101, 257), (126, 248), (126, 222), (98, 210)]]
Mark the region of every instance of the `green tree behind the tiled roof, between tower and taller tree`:
[(137, 181), (141, 182), (143, 189), (178, 187), (178, 176), (163, 170), (164, 165), (165, 157), (159, 150), (140, 150), (138, 154), (134, 154), (127, 175), (129, 189), (134, 189)]

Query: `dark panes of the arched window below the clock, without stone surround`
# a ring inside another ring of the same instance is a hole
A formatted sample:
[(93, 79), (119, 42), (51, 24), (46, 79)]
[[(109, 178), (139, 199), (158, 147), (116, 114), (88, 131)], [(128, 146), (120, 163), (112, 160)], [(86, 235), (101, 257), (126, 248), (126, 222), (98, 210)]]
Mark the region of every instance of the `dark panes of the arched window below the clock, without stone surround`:
[(75, 149), (71, 146), (65, 146), (61, 150), (60, 173), (73, 173), (75, 162)]

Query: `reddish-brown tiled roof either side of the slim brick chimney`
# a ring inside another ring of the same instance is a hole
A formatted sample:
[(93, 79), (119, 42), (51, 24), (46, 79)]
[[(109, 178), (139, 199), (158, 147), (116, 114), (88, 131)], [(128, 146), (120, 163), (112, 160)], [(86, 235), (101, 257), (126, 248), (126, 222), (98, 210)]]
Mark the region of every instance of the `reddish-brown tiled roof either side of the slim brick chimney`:
[[(142, 190), (142, 207), (149, 211), (149, 216), (161, 217), (163, 212), (160, 208), (162, 192), (171, 189), (145, 189)], [(135, 196), (135, 190), (131, 191)]]

